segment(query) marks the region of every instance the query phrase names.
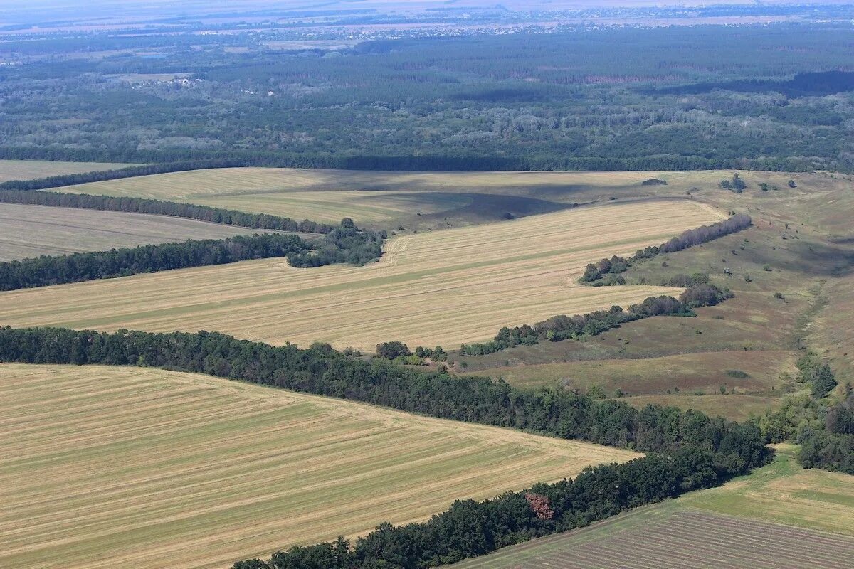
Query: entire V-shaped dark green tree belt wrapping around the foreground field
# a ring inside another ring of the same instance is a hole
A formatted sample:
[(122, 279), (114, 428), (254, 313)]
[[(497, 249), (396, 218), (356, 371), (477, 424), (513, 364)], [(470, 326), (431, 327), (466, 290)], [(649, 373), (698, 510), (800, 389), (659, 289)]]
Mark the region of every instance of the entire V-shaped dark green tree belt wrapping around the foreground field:
[(535, 485), (487, 502), (456, 502), (424, 524), (380, 525), (354, 549), (344, 540), (274, 554), (237, 567), (428, 567), (564, 531), (626, 508), (747, 473), (769, 459), (752, 424), (693, 410), (597, 401), (554, 388), (522, 390), (504, 381), (366, 362), (314, 344), (272, 346), (225, 334), (113, 334), (63, 328), (0, 328), (0, 362), (137, 365), (247, 380), (296, 392), (377, 404), (444, 419), (514, 427), (650, 454), (575, 480)]

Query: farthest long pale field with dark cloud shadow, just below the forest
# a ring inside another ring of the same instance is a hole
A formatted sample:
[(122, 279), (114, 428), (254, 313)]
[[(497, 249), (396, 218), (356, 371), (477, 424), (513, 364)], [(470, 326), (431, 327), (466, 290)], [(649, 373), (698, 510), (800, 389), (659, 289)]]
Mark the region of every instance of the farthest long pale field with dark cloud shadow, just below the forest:
[[(230, 207), (247, 212), (358, 224), (407, 231), (494, 221), (510, 213), (524, 217), (554, 212), (575, 203), (658, 197), (730, 201), (720, 189), (725, 171), (342, 171), (289, 168), (223, 168), (68, 186), (59, 191), (130, 195)], [(839, 180), (820, 175), (749, 172), (745, 179), (782, 188), (775, 197), (789, 199), (801, 189), (787, 188), (790, 177), (804, 189), (834, 189)], [(658, 178), (667, 185), (643, 185)], [(768, 194), (769, 192), (765, 192)], [(786, 195), (786, 196), (783, 196)]]

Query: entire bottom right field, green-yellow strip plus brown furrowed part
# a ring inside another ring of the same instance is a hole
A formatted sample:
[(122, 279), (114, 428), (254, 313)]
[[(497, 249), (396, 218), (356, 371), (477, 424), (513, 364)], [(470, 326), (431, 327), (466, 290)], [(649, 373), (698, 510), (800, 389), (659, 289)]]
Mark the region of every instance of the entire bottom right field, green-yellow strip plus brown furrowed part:
[(833, 569), (854, 557), (854, 478), (798, 466), (792, 445), (771, 464), (588, 527), (454, 565), (459, 569)]

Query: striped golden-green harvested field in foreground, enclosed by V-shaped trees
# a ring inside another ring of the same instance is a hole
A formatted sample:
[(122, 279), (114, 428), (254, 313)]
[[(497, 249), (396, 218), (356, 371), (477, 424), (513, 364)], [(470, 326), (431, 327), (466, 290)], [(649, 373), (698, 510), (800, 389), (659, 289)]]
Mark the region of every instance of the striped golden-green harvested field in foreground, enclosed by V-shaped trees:
[(0, 566), (225, 569), (636, 456), (199, 374), (0, 364)]

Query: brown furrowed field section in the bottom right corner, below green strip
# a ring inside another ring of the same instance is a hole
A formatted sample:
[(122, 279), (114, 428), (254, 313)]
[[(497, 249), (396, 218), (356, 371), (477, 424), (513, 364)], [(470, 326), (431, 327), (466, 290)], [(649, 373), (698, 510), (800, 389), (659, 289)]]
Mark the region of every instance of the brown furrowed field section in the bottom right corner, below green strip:
[(854, 539), (664, 502), (453, 565), (455, 569), (844, 569)]

